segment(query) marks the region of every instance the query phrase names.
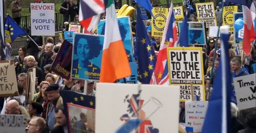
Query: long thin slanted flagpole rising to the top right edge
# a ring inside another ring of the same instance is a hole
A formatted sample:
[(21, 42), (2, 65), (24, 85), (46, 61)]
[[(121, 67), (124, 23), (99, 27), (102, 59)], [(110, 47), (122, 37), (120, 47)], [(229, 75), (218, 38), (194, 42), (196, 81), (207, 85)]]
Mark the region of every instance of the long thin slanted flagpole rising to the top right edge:
[[(226, 0), (222, 1), (222, 6), (221, 6), (221, 15), (220, 15), (220, 19), (222, 20), (222, 14), (223, 14), (223, 7), (224, 7), (224, 2), (226, 2)], [(215, 41), (215, 46), (214, 46), (214, 52), (213, 52), (213, 61), (212, 61), (212, 65), (211, 65), (211, 72), (210, 72), (210, 85), (208, 86), (208, 92), (207, 92), (207, 96), (206, 96), (206, 100), (209, 100), (209, 94), (210, 94), (210, 88), (211, 88), (211, 81), (212, 81), (212, 75), (213, 75), (213, 69), (214, 69), (214, 61), (215, 61), (215, 55), (216, 55), (216, 51), (217, 51), (217, 44), (218, 44), (218, 39), (219, 39), (219, 30), (220, 30), (220, 25), (221, 25), (221, 21), (219, 21), (219, 26), (218, 26), (218, 31), (217, 31), (217, 38)]]

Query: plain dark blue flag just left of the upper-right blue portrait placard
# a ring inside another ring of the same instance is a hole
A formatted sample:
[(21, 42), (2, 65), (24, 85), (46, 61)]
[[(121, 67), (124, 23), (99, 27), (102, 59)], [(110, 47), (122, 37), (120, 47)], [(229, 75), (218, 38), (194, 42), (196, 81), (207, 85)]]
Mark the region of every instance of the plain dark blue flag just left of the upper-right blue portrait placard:
[(182, 27), (181, 27), (181, 31), (180, 31), (180, 37), (179, 37), (179, 40), (178, 40), (178, 44), (180, 44), (181, 47), (189, 47), (189, 35), (188, 35), (188, 27), (189, 27), (189, 24), (188, 24), (188, 11), (186, 11), (186, 15), (183, 19), (183, 22), (182, 22)]

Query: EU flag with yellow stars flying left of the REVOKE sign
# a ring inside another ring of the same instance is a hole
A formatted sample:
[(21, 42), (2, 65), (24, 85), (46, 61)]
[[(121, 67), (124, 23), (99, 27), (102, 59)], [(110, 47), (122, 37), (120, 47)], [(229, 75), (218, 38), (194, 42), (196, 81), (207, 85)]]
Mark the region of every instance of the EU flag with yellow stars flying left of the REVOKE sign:
[(13, 42), (18, 36), (28, 35), (28, 33), (25, 30), (23, 30), (9, 15), (6, 18), (4, 29), (5, 41), (8, 43)]

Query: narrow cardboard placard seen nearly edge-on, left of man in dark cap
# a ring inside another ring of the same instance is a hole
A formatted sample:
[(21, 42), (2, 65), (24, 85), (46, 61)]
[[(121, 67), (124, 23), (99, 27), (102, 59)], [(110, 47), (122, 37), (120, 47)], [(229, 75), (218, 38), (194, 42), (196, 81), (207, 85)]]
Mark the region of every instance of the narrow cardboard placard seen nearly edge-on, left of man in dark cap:
[(34, 99), (35, 86), (36, 86), (36, 67), (29, 68), (27, 71), (27, 84), (26, 84), (26, 104), (31, 104)]

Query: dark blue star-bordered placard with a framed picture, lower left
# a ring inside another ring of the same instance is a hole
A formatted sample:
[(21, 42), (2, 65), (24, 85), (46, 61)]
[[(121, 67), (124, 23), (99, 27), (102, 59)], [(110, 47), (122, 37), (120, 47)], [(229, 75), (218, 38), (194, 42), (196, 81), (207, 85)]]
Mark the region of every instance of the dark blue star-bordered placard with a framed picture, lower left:
[[(69, 133), (95, 132), (95, 96), (61, 90)], [(89, 122), (88, 122), (89, 121)], [(87, 124), (85, 124), (87, 123)]]

